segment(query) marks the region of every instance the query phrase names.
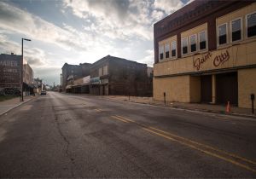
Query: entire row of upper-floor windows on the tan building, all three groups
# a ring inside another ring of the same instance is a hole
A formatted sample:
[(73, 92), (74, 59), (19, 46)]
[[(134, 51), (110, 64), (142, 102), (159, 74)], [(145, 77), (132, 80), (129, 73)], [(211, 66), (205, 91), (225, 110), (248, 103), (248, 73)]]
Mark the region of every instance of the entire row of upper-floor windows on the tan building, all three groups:
[[(230, 40), (232, 43), (242, 39), (242, 29), (242, 18), (238, 18), (230, 22)], [(247, 38), (256, 36), (256, 12), (246, 15), (246, 33)], [(228, 23), (218, 26), (217, 41), (218, 45), (228, 43)], [(199, 32), (189, 37), (182, 38), (181, 47), (182, 55), (207, 50), (207, 31)], [(159, 58), (160, 60), (177, 58), (177, 42), (172, 41), (171, 43), (160, 45)]]

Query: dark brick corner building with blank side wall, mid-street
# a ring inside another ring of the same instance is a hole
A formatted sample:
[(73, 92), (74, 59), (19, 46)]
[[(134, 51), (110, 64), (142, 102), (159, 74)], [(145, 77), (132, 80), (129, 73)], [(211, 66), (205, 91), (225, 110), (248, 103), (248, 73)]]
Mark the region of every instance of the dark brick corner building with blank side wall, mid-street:
[(91, 95), (150, 95), (147, 65), (111, 55), (90, 66)]

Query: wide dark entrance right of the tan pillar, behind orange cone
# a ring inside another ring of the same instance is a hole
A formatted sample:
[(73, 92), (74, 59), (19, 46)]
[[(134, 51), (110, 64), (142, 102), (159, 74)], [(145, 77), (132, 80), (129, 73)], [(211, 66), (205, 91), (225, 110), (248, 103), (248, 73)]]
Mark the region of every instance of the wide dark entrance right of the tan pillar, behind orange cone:
[(237, 72), (216, 75), (216, 101), (218, 104), (238, 104)]

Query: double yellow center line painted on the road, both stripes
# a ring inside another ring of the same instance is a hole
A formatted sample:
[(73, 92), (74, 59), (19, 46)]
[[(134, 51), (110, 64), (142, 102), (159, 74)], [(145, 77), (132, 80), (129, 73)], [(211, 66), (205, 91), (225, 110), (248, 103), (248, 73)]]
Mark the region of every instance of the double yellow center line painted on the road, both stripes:
[(114, 119), (117, 119), (119, 121), (122, 121), (124, 123), (132, 123), (132, 124), (137, 124), (140, 126), (143, 130), (148, 131), (151, 134), (154, 134), (155, 136), (161, 136), (169, 141), (175, 141), (183, 146), (193, 148), (195, 150), (198, 150), (202, 153), (205, 153), (207, 155), (210, 155), (212, 157), (222, 159), (226, 162), (229, 162), (233, 165), (239, 166), (243, 169), (250, 170), (252, 172), (256, 172), (256, 162), (250, 159), (245, 159), (241, 156), (238, 156), (234, 153), (228, 153), (223, 150), (220, 150), (216, 147), (208, 146), (206, 144), (200, 143), (198, 141), (192, 141), (188, 138), (184, 138), (182, 136), (177, 136), (175, 134), (172, 134), (171, 132), (167, 132), (164, 130), (159, 130), (157, 128), (151, 127), (151, 126), (146, 126), (143, 124), (139, 124), (136, 121), (130, 119), (130, 118), (125, 118), (119, 115), (114, 115), (111, 116)]

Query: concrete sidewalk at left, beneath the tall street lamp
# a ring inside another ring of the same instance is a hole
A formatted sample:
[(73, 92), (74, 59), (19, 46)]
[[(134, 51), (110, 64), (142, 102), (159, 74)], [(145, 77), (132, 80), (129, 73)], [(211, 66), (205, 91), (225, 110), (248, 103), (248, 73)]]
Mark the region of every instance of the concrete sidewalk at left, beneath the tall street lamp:
[(4, 113), (9, 112), (9, 110), (20, 106), (21, 104), (25, 103), (26, 101), (32, 100), (32, 98), (35, 97), (33, 95), (24, 95), (24, 101), (20, 101), (20, 97), (15, 97), (10, 100), (6, 101), (0, 101), (0, 116)]

